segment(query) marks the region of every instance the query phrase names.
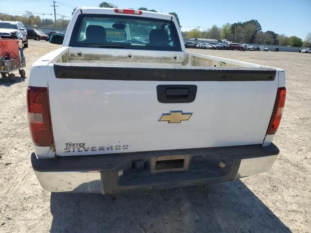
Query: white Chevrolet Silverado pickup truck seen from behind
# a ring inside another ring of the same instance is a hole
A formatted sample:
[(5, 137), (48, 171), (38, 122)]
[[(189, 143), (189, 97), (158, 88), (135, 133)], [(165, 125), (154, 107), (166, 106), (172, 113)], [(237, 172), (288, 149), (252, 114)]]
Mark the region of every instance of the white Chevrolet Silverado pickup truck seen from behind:
[(268, 170), (284, 70), (185, 51), (174, 16), (78, 8), (31, 68), (32, 166), (52, 192), (111, 194)]

